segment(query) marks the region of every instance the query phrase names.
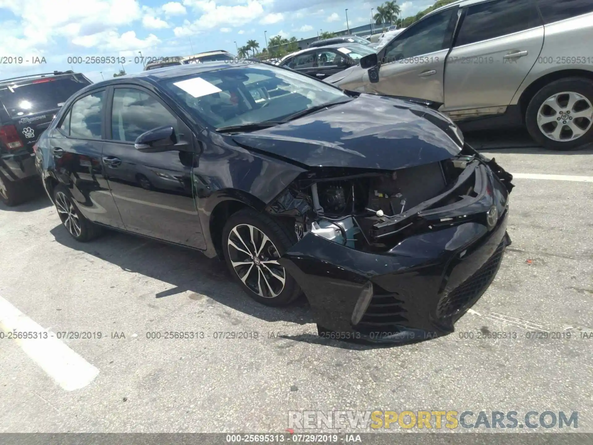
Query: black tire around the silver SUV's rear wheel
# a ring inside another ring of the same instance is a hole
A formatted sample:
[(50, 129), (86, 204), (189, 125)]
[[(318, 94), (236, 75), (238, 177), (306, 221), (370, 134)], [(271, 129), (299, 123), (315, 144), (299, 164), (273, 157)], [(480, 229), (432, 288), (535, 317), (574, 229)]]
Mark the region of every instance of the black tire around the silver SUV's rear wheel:
[[(541, 88), (541, 90), (538, 91), (533, 98), (531, 98), (531, 101), (527, 106), (527, 111), (525, 112), (525, 126), (527, 126), (527, 131), (531, 137), (536, 142), (538, 142), (538, 144), (542, 145), (548, 150), (574, 150), (575, 148), (581, 148), (593, 141), (593, 125), (589, 126), (589, 129), (584, 135), (567, 141), (557, 141), (550, 139), (540, 129), (540, 126), (537, 123), (537, 115), (540, 111), (540, 107), (543, 105), (544, 101), (547, 100), (547, 98), (554, 96), (554, 94), (563, 92), (581, 94), (581, 96), (584, 96), (588, 99), (589, 104), (593, 104), (593, 81), (581, 77), (568, 77), (550, 82), (545, 87)], [(584, 104), (584, 101), (579, 102), (579, 104)], [(570, 121), (572, 121), (572, 119), (570, 119)], [(561, 122), (570, 121), (567, 120)], [(584, 128), (586, 128), (587, 121), (588, 119), (581, 119), (579, 123), (582, 123)], [(576, 122), (577, 121), (575, 120), (575, 123)], [(549, 129), (555, 128), (553, 123), (547, 125), (547, 128)], [(558, 124), (556, 123), (556, 125)], [(567, 134), (570, 133), (567, 131)]]

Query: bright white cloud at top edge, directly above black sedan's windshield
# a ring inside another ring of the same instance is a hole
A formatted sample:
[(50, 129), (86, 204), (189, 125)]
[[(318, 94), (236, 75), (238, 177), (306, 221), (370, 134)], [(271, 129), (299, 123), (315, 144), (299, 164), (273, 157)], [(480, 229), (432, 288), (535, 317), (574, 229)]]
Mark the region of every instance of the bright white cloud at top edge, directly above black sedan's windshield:
[(257, 0), (247, 0), (247, 4), (235, 6), (217, 6), (213, 0), (183, 0), (183, 4), (203, 14), (192, 24), (176, 27), (173, 32), (177, 37), (199, 34), (221, 25), (241, 26), (263, 15), (262, 2)]

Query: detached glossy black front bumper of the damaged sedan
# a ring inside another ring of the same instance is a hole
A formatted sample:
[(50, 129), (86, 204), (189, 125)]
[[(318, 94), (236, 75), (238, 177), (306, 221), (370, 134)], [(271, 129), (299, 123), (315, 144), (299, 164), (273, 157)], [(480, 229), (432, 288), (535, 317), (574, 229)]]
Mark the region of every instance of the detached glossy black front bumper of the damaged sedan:
[(489, 178), (484, 190), (490, 192), (472, 206), (499, 206), (490, 228), (476, 220), (445, 225), (407, 237), (384, 253), (350, 249), (313, 233), (292, 246), (280, 263), (307, 296), (317, 325), (334, 338), (374, 342), (453, 332), (455, 321), (495, 278), (511, 242), (508, 193), (489, 167), (484, 171)]

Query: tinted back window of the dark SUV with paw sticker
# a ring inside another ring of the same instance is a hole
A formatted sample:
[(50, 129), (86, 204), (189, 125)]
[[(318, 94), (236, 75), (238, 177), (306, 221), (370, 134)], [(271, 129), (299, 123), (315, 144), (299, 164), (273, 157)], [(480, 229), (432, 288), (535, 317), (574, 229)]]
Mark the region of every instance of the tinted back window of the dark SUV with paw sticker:
[(0, 102), (11, 117), (59, 109), (72, 94), (90, 85), (81, 76), (45, 77), (17, 87), (0, 87)]

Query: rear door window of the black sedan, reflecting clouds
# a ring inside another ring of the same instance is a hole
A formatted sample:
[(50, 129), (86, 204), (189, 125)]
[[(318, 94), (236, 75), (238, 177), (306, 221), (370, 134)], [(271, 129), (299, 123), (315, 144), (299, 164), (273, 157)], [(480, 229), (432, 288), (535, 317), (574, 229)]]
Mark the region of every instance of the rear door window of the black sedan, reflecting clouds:
[[(101, 139), (101, 114), (105, 91), (78, 99), (70, 110), (70, 136), (78, 139)], [(66, 116), (67, 117), (67, 116)]]

